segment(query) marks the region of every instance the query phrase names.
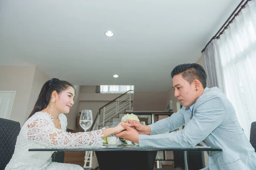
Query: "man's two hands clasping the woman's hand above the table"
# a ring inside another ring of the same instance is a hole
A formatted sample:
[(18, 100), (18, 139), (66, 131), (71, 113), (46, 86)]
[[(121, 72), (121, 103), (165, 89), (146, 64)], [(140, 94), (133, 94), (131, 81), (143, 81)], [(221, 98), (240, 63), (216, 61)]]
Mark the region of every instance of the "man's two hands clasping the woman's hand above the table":
[[(127, 124), (128, 123), (128, 124)], [(149, 135), (151, 129), (149, 126), (144, 126), (140, 124), (137, 120), (126, 120), (125, 123), (121, 123), (124, 130), (116, 133), (115, 136), (129, 140), (131, 142), (139, 143), (139, 135)]]

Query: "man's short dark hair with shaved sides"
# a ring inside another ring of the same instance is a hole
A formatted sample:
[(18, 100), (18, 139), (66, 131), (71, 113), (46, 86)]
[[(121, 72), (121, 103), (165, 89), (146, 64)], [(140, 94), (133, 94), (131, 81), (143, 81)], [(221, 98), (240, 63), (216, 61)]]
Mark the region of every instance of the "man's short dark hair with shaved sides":
[(173, 78), (177, 74), (181, 74), (183, 79), (189, 82), (190, 85), (195, 79), (198, 79), (203, 87), (206, 88), (207, 75), (204, 68), (197, 63), (177, 65), (172, 70), (171, 77)]

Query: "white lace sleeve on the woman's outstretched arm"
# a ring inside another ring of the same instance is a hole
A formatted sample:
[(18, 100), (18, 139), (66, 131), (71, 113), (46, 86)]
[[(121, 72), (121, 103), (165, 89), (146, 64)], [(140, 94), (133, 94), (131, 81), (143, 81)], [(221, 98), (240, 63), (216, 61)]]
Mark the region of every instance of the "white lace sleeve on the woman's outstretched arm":
[(28, 139), (56, 147), (102, 146), (102, 130), (68, 133), (45, 119), (36, 119), (28, 124)]

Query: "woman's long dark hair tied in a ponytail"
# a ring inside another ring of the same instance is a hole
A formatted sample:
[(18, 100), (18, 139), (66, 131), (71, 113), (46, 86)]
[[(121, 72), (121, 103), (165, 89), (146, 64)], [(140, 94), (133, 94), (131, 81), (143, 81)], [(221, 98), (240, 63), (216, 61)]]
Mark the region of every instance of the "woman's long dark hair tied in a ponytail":
[(48, 106), (53, 91), (57, 91), (57, 93), (60, 94), (62, 91), (66, 90), (69, 87), (73, 87), (73, 85), (71, 85), (69, 82), (56, 78), (52, 78), (45, 82), (43, 87), (41, 88), (38, 99), (35, 102), (35, 106), (30, 113), (29, 118), (33, 116), (33, 114), (35, 114), (36, 112), (42, 111)]

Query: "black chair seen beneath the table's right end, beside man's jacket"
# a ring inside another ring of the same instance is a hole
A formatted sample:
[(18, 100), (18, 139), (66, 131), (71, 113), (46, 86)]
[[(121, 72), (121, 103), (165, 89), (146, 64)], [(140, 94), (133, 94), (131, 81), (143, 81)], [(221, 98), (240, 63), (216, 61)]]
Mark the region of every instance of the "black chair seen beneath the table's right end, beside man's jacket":
[(205, 167), (204, 151), (186, 151), (189, 170), (201, 170)]

